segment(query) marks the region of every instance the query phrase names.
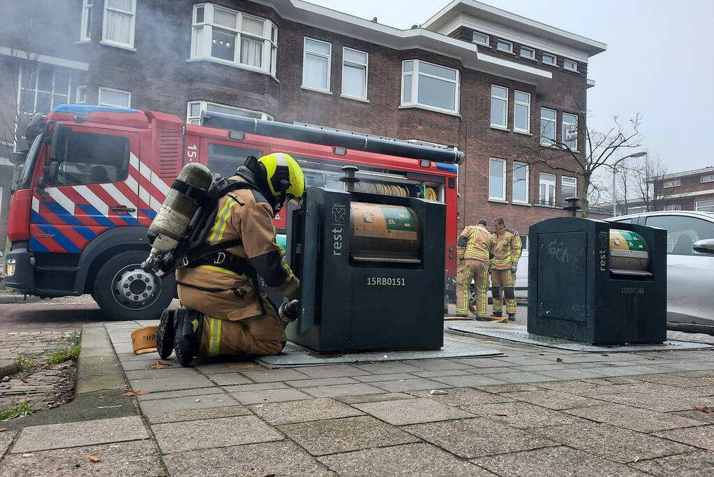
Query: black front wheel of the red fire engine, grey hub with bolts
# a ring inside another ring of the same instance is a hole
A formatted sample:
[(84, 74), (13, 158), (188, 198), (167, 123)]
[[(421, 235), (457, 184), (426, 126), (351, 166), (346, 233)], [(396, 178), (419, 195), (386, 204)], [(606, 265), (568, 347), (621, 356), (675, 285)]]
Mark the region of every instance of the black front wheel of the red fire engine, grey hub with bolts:
[(141, 270), (144, 251), (126, 251), (107, 260), (96, 275), (92, 296), (115, 320), (159, 319), (174, 299), (174, 275), (163, 280)]

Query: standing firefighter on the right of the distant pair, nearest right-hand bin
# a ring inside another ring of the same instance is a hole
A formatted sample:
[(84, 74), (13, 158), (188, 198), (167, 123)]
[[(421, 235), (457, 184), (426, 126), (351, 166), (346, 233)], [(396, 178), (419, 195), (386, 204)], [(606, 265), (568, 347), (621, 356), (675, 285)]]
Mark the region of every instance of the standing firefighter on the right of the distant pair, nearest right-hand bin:
[(493, 219), (493, 243), (491, 243), (491, 295), (493, 316), (503, 316), (503, 300), (506, 301), (508, 319), (516, 319), (516, 270), (521, 258), (521, 237), (513, 229), (506, 229), (503, 217)]

